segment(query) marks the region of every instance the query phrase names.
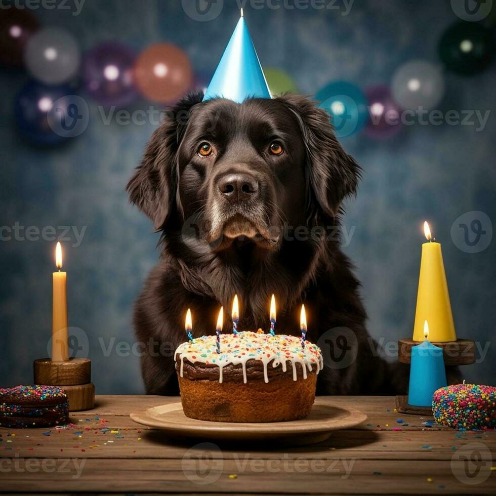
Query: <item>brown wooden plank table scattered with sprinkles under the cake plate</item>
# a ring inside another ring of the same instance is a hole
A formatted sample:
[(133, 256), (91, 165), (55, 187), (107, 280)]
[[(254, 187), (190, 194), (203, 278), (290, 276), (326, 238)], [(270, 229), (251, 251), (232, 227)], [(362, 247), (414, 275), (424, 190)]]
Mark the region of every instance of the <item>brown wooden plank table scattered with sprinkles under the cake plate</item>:
[(368, 421), (313, 446), (192, 447), (202, 440), (172, 441), (129, 418), (178, 398), (97, 396), (73, 427), (0, 429), (0, 491), (496, 494), (495, 432), (428, 427), (432, 418), (397, 414), (394, 397), (325, 399)]

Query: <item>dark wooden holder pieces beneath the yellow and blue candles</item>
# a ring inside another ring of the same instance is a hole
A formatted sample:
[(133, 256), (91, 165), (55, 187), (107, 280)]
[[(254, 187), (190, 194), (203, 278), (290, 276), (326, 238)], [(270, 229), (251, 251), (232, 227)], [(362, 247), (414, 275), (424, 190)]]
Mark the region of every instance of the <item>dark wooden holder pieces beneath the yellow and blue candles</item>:
[[(398, 341), (398, 359), (401, 363), (410, 363), (411, 349), (420, 345), (420, 341), (412, 339), (400, 339)], [(458, 365), (470, 365), (475, 363), (475, 342), (470, 339), (457, 339), (445, 343), (432, 342), (433, 345), (442, 348), (444, 365), (446, 369)], [(408, 396), (396, 396), (396, 409), (401, 414), (431, 416), (432, 409), (429, 406), (414, 406), (408, 404)]]

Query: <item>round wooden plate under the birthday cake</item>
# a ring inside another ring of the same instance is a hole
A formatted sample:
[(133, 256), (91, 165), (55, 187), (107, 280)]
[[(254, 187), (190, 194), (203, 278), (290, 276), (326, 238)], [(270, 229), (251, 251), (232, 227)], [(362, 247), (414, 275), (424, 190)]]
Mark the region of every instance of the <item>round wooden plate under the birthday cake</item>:
[(166, 431), (173, 437), (216, 441), (269, 441), (294, 445), (313, 444), (327, 439), (332, 431), (349, 429), (367, 420), (354, 408), (342, 408), (316, 400), (306, 419), (289, 422), (238, 424), (189, 419), (181, 403), (154, 406), (133, 412), (131, 419), (139, 424)]

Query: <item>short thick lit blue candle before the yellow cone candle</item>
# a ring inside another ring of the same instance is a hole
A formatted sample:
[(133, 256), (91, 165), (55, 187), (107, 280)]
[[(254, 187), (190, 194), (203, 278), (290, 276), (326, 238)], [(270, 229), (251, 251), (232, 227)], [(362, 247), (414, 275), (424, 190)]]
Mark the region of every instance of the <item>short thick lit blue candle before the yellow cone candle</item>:
[(411, 349), (408, 404), (431, 406), (434, 391), (446, 386), (443, 350), (427, 339), (429, 324), (424, 322), (425, 341)]

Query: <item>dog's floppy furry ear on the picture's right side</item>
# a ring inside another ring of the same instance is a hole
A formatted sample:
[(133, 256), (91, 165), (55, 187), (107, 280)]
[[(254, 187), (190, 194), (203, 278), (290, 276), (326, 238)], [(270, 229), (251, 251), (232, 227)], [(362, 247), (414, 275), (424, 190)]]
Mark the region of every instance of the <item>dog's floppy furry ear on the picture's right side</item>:
[(326, 215), (336, 217), (343, 199), (356, 193), (360, 166), (336, 139), (325, 110), (300, 95), (285, 95), (280, 99), (299, 121), (307, 150), (309, 186), (315, 200)]

